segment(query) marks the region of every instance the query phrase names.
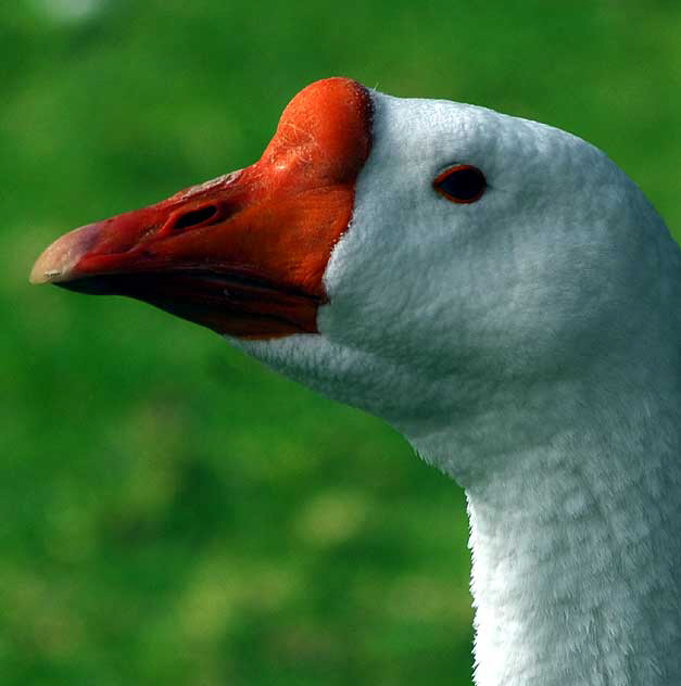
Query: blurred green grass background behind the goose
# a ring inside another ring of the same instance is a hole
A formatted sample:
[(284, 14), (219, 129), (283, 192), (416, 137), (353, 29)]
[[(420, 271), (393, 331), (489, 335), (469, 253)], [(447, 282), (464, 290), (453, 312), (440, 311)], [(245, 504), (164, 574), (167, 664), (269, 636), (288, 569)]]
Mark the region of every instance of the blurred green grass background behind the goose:
[(470, 684), (454, 484), (207, 330), (27, 274), (255, 161), (330, 75), (576, 132), (678, 237), (681, 5), (18, 0), (0, 56), (0, 682)]

